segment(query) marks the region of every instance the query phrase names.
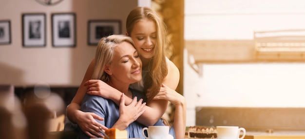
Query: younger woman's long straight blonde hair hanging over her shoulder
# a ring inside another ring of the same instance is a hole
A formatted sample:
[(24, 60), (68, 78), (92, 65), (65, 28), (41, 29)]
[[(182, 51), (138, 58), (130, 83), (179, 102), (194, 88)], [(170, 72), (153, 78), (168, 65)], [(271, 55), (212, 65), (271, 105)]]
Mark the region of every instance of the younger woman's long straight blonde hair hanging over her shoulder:
[(156, 24), (157, 37), (152, 62), (149, 67), (149, 76), (144, 78), (144, 92), (147, 93), (147, 89), (151, 89), (150, 95), (147, 96), (147, 103), (149, 104), (152, 101), (152, 98), (159, 92), (162, 82), (168, 74), (166, 44), (169, 40), (166, 37), (167, 31), (164, 22), (159, 15), (149, 7), (136, 7), (129, 13), (126, 21), (127, 33), (130, 35), (134, 24), (145, 18), (152, 20)]

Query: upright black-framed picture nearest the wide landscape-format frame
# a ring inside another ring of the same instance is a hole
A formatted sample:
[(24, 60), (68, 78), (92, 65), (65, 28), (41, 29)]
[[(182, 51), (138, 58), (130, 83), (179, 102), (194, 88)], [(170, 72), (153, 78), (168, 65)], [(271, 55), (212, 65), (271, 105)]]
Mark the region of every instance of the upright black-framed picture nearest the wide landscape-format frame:
[(54, 47), (76, 46), (76, 15), (74, 13), (52, 14), (52, 45)]

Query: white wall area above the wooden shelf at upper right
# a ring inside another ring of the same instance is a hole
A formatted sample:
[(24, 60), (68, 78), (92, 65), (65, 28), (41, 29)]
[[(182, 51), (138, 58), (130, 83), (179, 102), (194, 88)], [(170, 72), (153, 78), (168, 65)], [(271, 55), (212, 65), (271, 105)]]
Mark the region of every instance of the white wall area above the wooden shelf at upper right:
[(304, 0), (185, 0), (186, 40), (248, 40), (253, 31), (305, 29)]

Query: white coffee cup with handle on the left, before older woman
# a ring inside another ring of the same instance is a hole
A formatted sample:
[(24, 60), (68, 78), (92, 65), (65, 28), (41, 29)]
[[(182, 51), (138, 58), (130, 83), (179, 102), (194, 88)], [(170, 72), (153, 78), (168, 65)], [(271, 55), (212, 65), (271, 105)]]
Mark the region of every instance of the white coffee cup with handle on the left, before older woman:
[[(147, 131), (148, 137), (144, 131)], [(170, 127), (169, 126), (148, 126), (142, 129), (142, 134), (145, 139), (168, 139)]]

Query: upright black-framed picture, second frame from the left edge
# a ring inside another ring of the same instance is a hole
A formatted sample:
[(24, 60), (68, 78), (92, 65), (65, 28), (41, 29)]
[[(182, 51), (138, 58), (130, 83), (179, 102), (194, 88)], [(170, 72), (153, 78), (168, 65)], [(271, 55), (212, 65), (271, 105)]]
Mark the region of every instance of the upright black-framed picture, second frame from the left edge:
[(45, 14), (22, 14), (23, 47), (46, 46)]

